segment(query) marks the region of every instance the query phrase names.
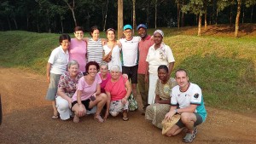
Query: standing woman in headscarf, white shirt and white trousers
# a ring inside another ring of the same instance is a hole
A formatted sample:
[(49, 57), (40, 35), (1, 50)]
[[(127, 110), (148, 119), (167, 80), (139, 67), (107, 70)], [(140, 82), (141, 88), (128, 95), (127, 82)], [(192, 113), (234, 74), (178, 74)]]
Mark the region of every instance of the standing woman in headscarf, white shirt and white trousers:
[[(154, 44), (148, 49), (148, 55), (146, 61), (148, 66), (146, 67), (146, 75), (149, 75), (149, 89), (148, 89), (148, 104), (154, 104), (155, 94), (154, 90), (158, 79), (157, 69), (160, 65), (166, 65), (169, 69), (168, 75), (171, 76), (172, 68), (174, 66), (174, 57), (172, 55), (172, 49), (162, 43), (164, 32), (161, 30), (154, 31)], [(149, 73), (149, 74), (148, 74)], [(148, 77), (145, 77), (145, 81), (148, 81)]]

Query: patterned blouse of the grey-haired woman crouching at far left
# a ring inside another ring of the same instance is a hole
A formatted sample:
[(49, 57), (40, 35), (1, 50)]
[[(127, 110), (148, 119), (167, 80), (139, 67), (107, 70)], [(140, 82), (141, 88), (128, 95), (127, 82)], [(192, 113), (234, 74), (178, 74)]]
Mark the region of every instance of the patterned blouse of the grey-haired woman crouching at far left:
[(65, 72), (61, 75), (58, 88), (62, 88), (68, 97), (72, 97), (77, 90), (77, 84), (79, 84), (79, 78), (82, 78), (83, 72), (79, 71), (77, 77), (73, 80), (70, 77), (69, 72)]

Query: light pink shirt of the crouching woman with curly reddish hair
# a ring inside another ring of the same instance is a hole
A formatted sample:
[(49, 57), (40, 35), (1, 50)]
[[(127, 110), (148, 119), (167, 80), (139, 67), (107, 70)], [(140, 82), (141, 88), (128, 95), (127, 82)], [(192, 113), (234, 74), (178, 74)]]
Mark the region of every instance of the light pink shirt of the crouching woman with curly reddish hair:
[[(99, 74), (96, 74), (96, 78), (93, 84), (91, 85), (87, 84), (84, 78), (85, 77), (80, 78), (79, 84), (78, 84), (78, 90), (82, 91), (81, 101), (88, 100), (90, 96), (96, 92), (97, 84), (102, 83), (102, 78), (99, 76)], [(77, 96), (78, 96), (77, 93), (78, 91), (76, 91), (76, 93), (73, 95), (72, 97), (73, 101), (77, 101)]]

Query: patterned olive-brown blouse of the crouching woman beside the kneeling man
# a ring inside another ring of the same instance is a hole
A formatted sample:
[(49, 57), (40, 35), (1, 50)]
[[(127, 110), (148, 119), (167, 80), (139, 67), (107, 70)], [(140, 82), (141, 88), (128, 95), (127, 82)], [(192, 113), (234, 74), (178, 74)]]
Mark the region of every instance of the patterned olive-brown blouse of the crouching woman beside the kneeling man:
[(172, 88), (177, 85), (174, 78), (170, 78), (166, 84), (162, 84), (160, 79), (157, 79), (155, 95), (159, 95), (162, 100), (170, 99), (170, 94), (172, 93)]

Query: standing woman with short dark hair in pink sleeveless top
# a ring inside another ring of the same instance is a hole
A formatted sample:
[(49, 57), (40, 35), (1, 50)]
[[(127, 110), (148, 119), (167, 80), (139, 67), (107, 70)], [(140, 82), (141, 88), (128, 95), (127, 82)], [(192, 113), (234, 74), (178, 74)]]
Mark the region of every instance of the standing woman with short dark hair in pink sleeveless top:
[(75, 38), (71, 39), (69, 48), (69, 60), (77, 60), (79, 62), (79, 70), (85, 75), (87, 43), (83, 40), (84, 29), (76, 26), (73, 32)]

